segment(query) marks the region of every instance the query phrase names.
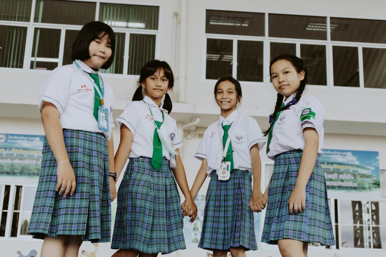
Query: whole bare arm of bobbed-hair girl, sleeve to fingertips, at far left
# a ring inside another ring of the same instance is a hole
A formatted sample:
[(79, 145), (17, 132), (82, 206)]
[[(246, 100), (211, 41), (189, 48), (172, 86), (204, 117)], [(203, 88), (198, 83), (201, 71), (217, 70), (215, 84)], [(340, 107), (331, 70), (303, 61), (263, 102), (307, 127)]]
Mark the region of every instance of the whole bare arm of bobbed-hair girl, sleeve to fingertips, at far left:
[(57, 177), (58, 183), (56, 191), (60, 194), (64, 192), (66, 197), (69, 193), (72, 195), (75, 192), (76, 178), (71, 167), (69, 154), (67, 153), (66, 145), (63, 137), (63, 128), (60, 123), (60, 112), (54, 104), (43, 101), (41, 109), (41, 120), (43, 121), (44, 132), (58, 163)]

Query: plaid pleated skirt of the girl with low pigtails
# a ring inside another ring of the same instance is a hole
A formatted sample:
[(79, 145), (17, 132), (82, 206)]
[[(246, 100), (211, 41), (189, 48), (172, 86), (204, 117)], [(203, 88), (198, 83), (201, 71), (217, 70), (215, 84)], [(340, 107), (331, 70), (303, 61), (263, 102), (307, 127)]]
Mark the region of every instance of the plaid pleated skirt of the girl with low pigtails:
[(132, 158), (118, 190), (111, 249), (169, 254), (186, 249), (180, 198), (164, 158), (154, 169), (151, 159)]

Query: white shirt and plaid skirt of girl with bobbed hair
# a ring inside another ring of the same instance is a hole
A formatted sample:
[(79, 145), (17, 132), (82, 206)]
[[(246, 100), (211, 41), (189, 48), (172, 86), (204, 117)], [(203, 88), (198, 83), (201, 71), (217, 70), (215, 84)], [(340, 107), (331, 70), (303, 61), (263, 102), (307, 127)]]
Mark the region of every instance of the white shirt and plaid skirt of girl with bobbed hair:
[[(104, 84), (109, 130), (99, 129), (94, 116), (95, 92), (89, 74), (98, 75), (82, 61), (54, 69), (39, 91), (39, 111), (43, 101), (56, 106), (76, 178), (73, 195), (56, 192), (57, 161), (44, 138), (41, 171), (28, 233), (34, 238), (81, 235), (84, 241), (110, 241), (110, 190), (107, 140), (111, 138), (113, 94)], [(98, 76), (95, 76), (98, 79)], [(99, 81), (103, 85), (102, 81)]]

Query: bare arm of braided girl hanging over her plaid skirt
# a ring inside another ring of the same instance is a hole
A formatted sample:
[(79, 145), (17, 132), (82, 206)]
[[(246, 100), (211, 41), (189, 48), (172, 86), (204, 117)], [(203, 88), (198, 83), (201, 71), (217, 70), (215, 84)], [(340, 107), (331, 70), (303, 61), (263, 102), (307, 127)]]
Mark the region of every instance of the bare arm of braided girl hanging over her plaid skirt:
[(303, 137), (305, 145), (302, 160), (300, 161), (299, 174), (295, 188), (288, 199), (290, 214), (302, 212), (302, 209), (306, 209), (306, 186), (314, 170), (319, 147), (319, 136), (315, 128), (305, 128)]

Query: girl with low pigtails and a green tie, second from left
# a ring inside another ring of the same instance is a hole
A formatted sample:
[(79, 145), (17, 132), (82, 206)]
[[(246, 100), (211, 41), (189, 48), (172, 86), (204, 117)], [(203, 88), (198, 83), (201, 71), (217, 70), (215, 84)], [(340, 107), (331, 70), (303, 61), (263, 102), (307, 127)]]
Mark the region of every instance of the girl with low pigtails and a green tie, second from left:
[(186, 198), (187, 214), (192, 219), (197, 215), (178, 155), (182, 141), (169, 115), (173, 71), (166, 62), (149, 61), (140, 70), (138, 84), (133, 101), (116, 120), (121, 129), (114, 158), (117, 176), (128, 158), (129, 163), (118, 190), (111, 248), (120, 250), (113, 257), (150, 257), (186, 249), (175, 181)]

